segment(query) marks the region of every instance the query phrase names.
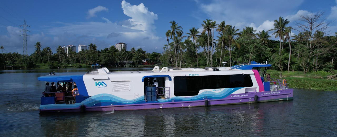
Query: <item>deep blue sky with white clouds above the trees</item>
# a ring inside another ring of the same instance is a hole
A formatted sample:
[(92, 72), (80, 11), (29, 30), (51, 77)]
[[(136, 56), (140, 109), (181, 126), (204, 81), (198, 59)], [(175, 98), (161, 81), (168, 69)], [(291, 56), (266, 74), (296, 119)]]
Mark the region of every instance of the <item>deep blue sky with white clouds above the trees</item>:
[[(134, 47), (162, 53), (170, 21), (176, 21), (184, 33), (192, 27), (201, 31), (206, 19), (217, 24), (225, 21), (240, 31), (250, 26), (258, 32), (273, 29), (273, 21), (280, 16), (288, 19), (292, 27), (296, 27), (294, 22), (300, 19), (299, 15), (317, 11), (325, 11), (327, 20), (334, 21), (336, 3), (337, 0), (2, 0), (0, 46), (5, 48), (4, 53), (23, 53), (23, 28), (19, 25), (26, 19), (30, 26), (29, 55), (36, 42), (42, 48), (51, 47), (53, 53), (59, 45), (93, 43), (97, 49), (104, 49), (119, 42), (127, 43), (127, 50)], [(336, 21), (328, 31), (328, 35), (335, 35)]]

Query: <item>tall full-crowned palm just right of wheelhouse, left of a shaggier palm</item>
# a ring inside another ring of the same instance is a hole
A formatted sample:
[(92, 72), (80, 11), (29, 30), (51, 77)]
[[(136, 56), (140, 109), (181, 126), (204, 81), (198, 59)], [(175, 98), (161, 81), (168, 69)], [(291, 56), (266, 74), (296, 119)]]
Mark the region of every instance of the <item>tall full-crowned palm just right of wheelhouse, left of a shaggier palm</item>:
[(280, 17), (278, 20), (274, 20), (274, 29), (271, 30), (276, 30), (273, 34), (276, 37), (280, 37), (280, 55), (281, 55), (281, 38), (283, 39), (284, 36), (284, 29), (286, 28), (286, 26), (288, 25), (288, 23), (290, 23), (290, 21), (288, 21), (288, 19), (283, 19), (282, 17)]

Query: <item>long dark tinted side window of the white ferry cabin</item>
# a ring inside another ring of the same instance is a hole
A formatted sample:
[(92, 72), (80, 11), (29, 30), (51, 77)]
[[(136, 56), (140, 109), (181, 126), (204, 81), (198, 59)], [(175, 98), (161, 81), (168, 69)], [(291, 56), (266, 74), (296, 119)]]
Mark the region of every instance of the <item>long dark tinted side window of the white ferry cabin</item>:
[(174, 95), (197, 95), (201, 89), (251, 87), (249, 74), (174, 77)]

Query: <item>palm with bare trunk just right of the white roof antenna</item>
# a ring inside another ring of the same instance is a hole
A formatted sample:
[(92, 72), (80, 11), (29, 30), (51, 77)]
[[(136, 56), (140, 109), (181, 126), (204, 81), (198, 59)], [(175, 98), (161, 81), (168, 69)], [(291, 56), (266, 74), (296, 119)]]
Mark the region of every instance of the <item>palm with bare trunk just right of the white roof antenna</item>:
[(232, 56), (231, 56), (231, 45), (235, 44), (238, 48), (240, 48), (240, 44), (235, 40), (236, 36), (240, 35), (238, 32), (239, 29), (235, 29), (235, 26), (227, 25), (224, 35), (228, 38), (228, 45), (229, 45), (229, 66), (232, 66)]

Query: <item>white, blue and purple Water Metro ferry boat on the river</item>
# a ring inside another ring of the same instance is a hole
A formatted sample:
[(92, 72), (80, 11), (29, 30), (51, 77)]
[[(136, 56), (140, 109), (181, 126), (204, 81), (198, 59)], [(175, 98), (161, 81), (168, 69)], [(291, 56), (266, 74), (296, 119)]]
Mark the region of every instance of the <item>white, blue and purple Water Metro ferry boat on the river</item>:
[(39, 110), (114, 111), (293, 100), (293, 89), (288, 88), (286, 80), (264, 82), (270, 66), (251, 61), (232, 67), (160, 70), (156, 66), (149, 71), (122, 72), (103, 67), (86, 74), (50, 73), (38, 80), (75, 82), (77, 89), (43, 95)]

